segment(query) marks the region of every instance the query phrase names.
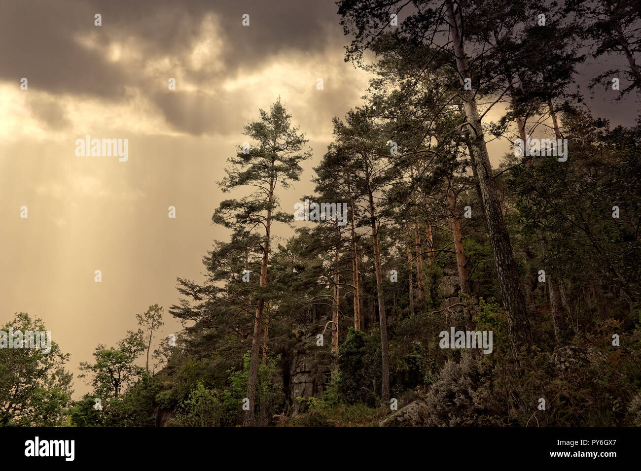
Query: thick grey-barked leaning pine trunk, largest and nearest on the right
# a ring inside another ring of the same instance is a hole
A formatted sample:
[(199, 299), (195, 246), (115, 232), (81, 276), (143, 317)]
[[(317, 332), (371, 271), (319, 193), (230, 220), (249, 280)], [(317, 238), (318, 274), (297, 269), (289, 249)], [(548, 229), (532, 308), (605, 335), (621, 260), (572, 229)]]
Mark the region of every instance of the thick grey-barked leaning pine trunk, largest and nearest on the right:
[[(461, 84), (463, 85), (465, 78), (469, 77), (469, 72), (465, 49), (463, 47), (463, 38), (460, 35), (461, 15), (458, 15), (458, 17), (454, 15), (452, 0), (445, 0), (445, 3), (449, 17), (454, 55), (456, 56), (456, 67), (460, 74)], [(460, 8), (460, 4), (458, 8)], [(462, 90), (461, 95), (464, 101), (465, 115), (472, 128), (470, 144), (472, 144), (472, 148), (474, 149), (479, 187), (483, 195), (483, 204), (485, 205), (485, 220), (490, 235), (490, 245), (492, 245), (492, 252), (494, 252), (494, 261), (499, 286), (501, 287), (503, 306), (508, 314), (508, 333), (512, 345), (512, 356), (517, 359), (520, 349), (524, 347), (529, 351), (531, 345), (531, 333), (529, 330), (525, 298), (520, 285), (519, 272), (514, 260), (512, 245), (510, 244), (510, 235), (505, 226), (500, 202), (496, 194), (494, 176), (492, 175), (490, 158), (483, 138), (481, 117), (476, 106), (476, 99), (474, 99), (474, 92), (472, 92), (472, 90)]]

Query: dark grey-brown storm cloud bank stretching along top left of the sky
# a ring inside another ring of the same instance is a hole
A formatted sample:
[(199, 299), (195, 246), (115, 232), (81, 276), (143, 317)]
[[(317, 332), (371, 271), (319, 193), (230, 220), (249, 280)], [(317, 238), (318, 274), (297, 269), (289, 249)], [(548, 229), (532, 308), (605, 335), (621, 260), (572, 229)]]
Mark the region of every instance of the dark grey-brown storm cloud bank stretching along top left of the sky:
[[(74, 36), (97, 35), (99, 44), (133, 40), (146, 59), (172, 56), (185, 63), (199, 34), (203, 17), (217, 15), (223, 41), (224, 70), (233, 77), (239, 67), (260, 67), (288, 49), (320, 52), (326, 35), (323, 24), (334, 24), (331, 1), (3, 1), (0, 15), (0, 79), (29, 78), (29, 85), (51, 92), (118, 97), (125, 85), (136, 85), (136, 70), (87, 51)], [(94, 26), (101, 13), (103, 26)], [(251, 26), (242, 26), (249, 13)], [(211, 80), (211, 74), (185, 69), (190, 79)], [(199, 76), (200, 75), (200, 76)]]

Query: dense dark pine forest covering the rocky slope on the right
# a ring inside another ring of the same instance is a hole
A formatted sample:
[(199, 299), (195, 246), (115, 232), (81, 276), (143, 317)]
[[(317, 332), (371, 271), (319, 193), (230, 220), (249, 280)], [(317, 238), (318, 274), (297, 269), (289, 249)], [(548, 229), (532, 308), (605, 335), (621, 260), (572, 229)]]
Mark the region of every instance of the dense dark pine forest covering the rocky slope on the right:
[[(261, 110), (219, 183), (246, 195), (213, 215), (230, 236), (204, 283), (178, 279), (187, 327), (163, 369), (121, 394), (103, 357), (133, 364), (151, 340), (99, 345), (84, 368), (107, 406), (72, 423), (373, 425), (396, 401), (424, 409), (412, 425), (640, 426), (641, 121), (612, 128), (576, 87), (606, 55), (620, 69), (592, 89), (636, 106), (637, 7), (338, 2), (373, 78), (301, 201), (345, 219), (281, 207), (311, 151), (280, 100)], [(496, 169), (492, 140), (510, 143)], [(492, 353), (442, 349), (451, 328), (492, 331)]]

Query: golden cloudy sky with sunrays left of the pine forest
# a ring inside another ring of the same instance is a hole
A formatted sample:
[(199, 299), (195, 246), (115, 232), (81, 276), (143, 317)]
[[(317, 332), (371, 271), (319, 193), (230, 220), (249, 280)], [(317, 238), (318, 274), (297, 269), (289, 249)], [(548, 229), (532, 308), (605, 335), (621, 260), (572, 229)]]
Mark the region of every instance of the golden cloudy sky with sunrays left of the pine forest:
[[(226, 238), (211, 222), (224, 199), (217, 182), (259, 108), (281, 97), (313, 149), (281, 196), (293, 211), (313, 189), (332, 117), (362, 103), (369, 79), (344, 62), (333, 1), (3, 0), (0, 9), (0, 324), (17, 312), (42, 318), (74, 374), (151, 304), (165, 307), (156, 343), (180, 329), (167, 312), (176, 277), (201, 281), (204, 254)], [(612, 99), (595, 106), (615, 124), (634, 118)], [(86, 135), (128, 139), (128, 160), (76, 155)], [(490, 144), (493, 165), (506, 149)], [(90, 391), (77, 378), (74, 389)]]

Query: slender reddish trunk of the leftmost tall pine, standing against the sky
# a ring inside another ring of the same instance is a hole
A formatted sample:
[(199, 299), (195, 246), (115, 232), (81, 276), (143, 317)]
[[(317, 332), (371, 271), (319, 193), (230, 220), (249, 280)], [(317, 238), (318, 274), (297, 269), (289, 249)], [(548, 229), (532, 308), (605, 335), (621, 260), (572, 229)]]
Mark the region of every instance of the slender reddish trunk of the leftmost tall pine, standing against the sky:
[[(273, 167), (272, 162), (272, 167)], [(272, 226), (272, 204), (274, 203), (274, 179), (269, 183), (269, 206), (267, 208), (267, 219), (265, 220), (265, 245), (263, 246), (263, 260), (260, 265), (260, 287), (267, 284), (267, 265), (269, 262), (269, 243), (271, 242)], [(244, 427), (253, 427), (256, 424), (254, 418), (254, 405), (256, 402), (256, 386), (258, 386), (258, 356), (260, 352), (260, 334), (265, 299), (258, 299), (256, 306), (256, 317), (254, 318), (254, 336), (251, 341), (251, 356), (249, 359), (249, 378), (247, 380), (247, 399), (249, 399), (249, 410), (245, 411), (243, 420)]]

